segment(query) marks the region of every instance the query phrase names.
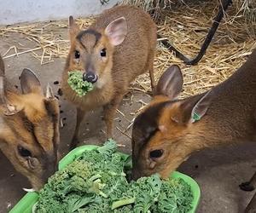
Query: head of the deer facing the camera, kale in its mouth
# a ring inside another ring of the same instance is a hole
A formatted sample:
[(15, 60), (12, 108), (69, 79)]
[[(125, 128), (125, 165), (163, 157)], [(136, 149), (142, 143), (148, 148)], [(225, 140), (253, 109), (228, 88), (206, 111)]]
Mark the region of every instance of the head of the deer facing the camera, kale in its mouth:
[(73, 16), (69, 17), (68, 22), (71, 47), (67, 72), (79, 70), (83, 72), (84, 81), (95, 83), (96, 88), (101, 89), (111, 77), (114, 46), (125, 40), (126, 20), (124, 17), (113, 20), (101, 31), (93, 28), (79, 30)]

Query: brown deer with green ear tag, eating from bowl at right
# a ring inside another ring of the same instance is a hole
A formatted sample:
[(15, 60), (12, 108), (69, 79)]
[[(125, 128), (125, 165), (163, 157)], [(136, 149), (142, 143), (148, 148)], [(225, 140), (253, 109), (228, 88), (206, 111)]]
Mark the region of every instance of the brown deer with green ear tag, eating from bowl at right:
[(135, 119), (134, 179), (153, 173), (166, 178), (191, 153), (206, 147), (256, 141), (256, 49), (230, 78), (208, 92), (177, 100), (182, 87), (179, 67), (171, 66), (161, 76), (153, 101)]

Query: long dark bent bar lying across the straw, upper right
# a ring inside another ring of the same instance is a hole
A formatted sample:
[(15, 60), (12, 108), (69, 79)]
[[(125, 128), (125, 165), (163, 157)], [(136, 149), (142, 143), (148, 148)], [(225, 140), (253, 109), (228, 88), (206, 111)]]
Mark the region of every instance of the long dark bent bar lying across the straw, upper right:
[[(214, 36), (215, 32), (217, 31), (219, 23), (224, 16), (224, 12), (228, 9), (228, 7), (231, 3), (232, 3), (232, 0), (223, 0), (222, 3), (219, 5), (218, 14), (216, 15), (216, 17), (213, 20), (212, 27), (209, 30), (204, 43), (201, 45), (200, 52), (198, 53), (198, 55), (195, 56), (194, 59), (189, 59), (187, 56), (183, 55), (181, 52), (179, 52), (177, 49), (175, 49), (171, 43), (168, 43), (168, 41), (166, 41), (166, 40), (161, 40), (161, 43), (163, 43), (167, 49), (171, 49), (172, 51), (174, 51), (176, 56), (179, 59), (183, 60), (183, 62), (185, 64), (187, 64), (187, 65), (197, 64), (201, 60), (203, 55), (205, 55), (207, 48), (212, 41), (212, 37)], [(158, 38), (161, 38), (161, 36), (158, 35)]]

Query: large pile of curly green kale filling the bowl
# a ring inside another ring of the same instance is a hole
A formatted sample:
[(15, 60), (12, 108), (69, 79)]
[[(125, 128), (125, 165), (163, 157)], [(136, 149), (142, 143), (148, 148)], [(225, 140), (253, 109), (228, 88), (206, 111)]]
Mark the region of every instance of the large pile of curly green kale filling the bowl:
[(34, 212), (170, 213), (191, 209), (193, 195), (183, 179), (161, 181), (159, 175), (153, 175), (129, 183), (124, 172), (128, 158), (116, 150), (116, 143), (107, 141), (56, 172), (39, 192)]

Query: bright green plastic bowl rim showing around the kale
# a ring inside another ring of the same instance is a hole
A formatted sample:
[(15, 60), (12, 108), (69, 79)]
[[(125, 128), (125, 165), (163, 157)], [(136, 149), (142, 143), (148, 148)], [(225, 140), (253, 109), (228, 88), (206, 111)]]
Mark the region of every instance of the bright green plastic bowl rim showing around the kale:
[[(94, 146), (94, 145), (84, 145), (84, 146), (73, 149), (70, 153), (67, 153), (67, 155), (61, 159), (59, 163), (59, 170), (64, 168), (67, 164), (70, 164), (71, 162), (73, 162), (73, 160), (78, 158), (85, 150), (92, 150), (96, 147), (97, 146)], [(192, 202), (192, 210), (190, 210), (188, 213), (195, 213), (197, 205), (199, 204), (200, 196), (201, 196), (200, 187), (198, 186), (196, 181), (191, 177), (186, 176), (183, 173), (180, 173), (178, 171), (174, 171), (170, 177), (182, 178), (184, 181), (189, 183), (192, 189), (194, 199)], [(17, 204), (15, 204), (14, 208), (10, 210), (9, 213), (32, 213), (32, 206), (37, 201), (38, 201), (38, 193), (26, 193), (26, 195), (22, 199), (20, 199), (20, 201)]]

